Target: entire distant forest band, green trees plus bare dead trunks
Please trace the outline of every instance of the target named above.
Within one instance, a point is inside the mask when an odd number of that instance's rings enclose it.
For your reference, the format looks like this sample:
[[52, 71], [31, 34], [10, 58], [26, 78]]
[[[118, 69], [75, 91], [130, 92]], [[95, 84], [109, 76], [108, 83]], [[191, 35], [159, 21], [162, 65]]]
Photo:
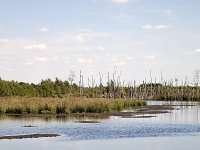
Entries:
[[[42, 80], [39, 84], [29, 84], [17, 81], [5, 81], [0, 78], [0, 96], [21, 96], [21, 97], [87, 97], [87, 98], [124, 98], [124, 99], [154, 99], [154, 100], [183, 100], [199, 101], [199, 72], [195, 78], [195, 83], [189, 85], [186, 81], [178, 85], [178, 79], [174, 81], [156, 83], [143, 81], [136, 86], [125, 85], [118, 79], [109, 79], [106, 85], [102, 84], [100, 76], [99, 84], [84, 86], [83, 77], [80, 75], [79, 84], [74, 83], [74, 74], [69, 76], [68, 81], [56, 78]], [[108, 76], [109, 77], [109, 76]], [[89, 82], [89, 81], [88, 81]]]

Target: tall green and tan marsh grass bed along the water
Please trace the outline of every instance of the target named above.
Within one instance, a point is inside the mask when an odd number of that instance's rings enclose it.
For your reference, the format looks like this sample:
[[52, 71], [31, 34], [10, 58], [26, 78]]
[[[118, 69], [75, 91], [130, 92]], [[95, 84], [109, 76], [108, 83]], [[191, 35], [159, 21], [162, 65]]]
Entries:
[[143, 100], [0, 98], [1, 114], [106, 113], [146, 105]]

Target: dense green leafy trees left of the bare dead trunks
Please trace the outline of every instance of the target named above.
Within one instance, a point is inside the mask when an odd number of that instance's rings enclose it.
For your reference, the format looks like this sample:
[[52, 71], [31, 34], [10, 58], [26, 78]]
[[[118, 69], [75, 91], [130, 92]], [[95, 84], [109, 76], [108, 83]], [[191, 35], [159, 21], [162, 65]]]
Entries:
[[[73, 89], [73, 90], [70, 90]], [[77, 96], [78, 86], [58, 78], [42, 80], [39, 84], [0, 79], [0, 96], [68, 97]]]

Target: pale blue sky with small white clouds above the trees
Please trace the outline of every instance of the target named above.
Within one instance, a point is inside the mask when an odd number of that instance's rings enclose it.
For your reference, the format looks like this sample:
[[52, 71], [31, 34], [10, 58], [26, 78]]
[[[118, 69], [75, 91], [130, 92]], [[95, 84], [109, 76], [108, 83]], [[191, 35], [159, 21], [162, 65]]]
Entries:
[[192, 82], [199, 15], [199, 0], [0, 0], [0, 77]]

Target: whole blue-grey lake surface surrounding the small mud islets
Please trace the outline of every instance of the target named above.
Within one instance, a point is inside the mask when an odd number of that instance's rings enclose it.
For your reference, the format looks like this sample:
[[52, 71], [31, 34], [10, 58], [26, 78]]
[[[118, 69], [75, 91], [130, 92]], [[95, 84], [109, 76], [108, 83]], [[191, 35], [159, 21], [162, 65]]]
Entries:
[[[149, 105], [169, 102], [149, 101]], [[102, 150], [102, 149], [154, 149], [199, 150], [199, 103], [173, 102], [176, 106], [167, 114], [153, 118], [74, 118], [74, 117], [0, 117], [0, 136], [32, 133], [56, 133], [60, 137], [1, 140], [0, 150]], [[77, 123], [94, 120], [99, 123]], [[36, 127], [25, 128], [24, 125]]]

